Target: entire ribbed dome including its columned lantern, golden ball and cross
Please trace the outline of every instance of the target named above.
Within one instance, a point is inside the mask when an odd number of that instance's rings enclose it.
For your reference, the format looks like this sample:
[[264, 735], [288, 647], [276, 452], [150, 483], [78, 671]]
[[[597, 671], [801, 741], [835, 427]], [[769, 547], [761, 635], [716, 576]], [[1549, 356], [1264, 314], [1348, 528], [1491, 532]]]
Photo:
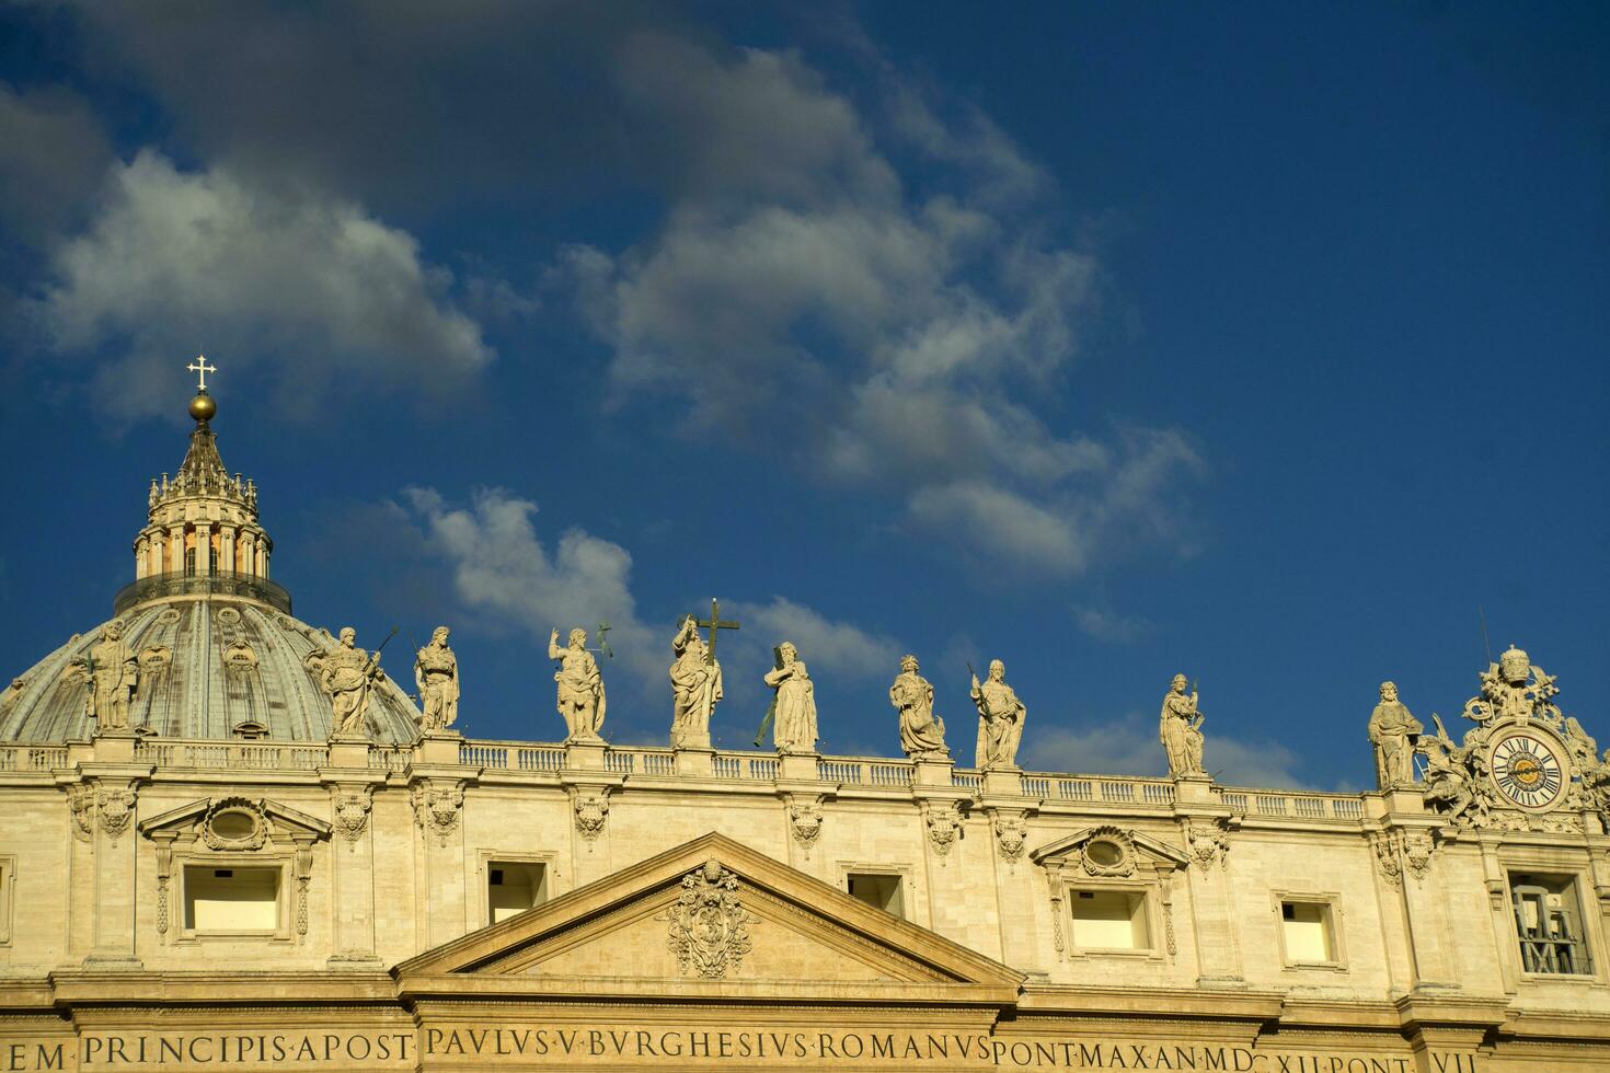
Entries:
[[[179, 471], [151, 481], [145, 495], [134, 582], [113, 598], [114, 618], [0, 689], [0, 742], [84, 742], [106, 729], [90, 714], [89, 666], [113, 624], [127, 648], [116, 660], [137, 666], [129, 727], [163, 738], [330, 738], [335, 711], [319, 664], [340, 645], [330, 631], [291, 618], [290, 594], [269, 581], [274, 541], [258, 523], [258, 486], [224, 468], [208, 423], [216, 413], [203, 383]], [[119, 687], [116, 695], [127, 693]], [[419, 709], [383, 674], [365, 714], [380, 745], [419, 737]]]

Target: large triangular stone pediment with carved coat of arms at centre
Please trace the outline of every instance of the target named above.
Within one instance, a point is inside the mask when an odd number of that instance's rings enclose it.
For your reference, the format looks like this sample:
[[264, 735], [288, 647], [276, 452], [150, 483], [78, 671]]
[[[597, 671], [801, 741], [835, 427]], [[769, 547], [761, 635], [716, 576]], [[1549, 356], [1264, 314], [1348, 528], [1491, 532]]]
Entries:
[[[580, 978], [641, 993], [678, 988], [985, 988], [1022, 973], [873, 909], [797, 869], [710, 833], [502, 923], [402, 962], [409, 981], [501, 978], [551, 989]], [[469, 980], [464, 980], [470, 985]], [[494, 985], [496, 986], [496, 985]], [[483, 989], [483, 988], [475, 988]], [[977, 996], [974, 996], [976, 999]]]

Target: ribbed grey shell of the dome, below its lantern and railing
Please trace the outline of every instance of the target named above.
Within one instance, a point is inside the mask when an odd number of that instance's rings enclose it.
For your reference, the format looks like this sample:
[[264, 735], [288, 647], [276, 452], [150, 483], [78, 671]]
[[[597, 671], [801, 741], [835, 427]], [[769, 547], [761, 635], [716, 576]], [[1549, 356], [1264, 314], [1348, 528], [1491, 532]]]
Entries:
[[[309, 656], [336, 647], [328, 631], [251, 600], [177, 597], [142, 603], [111, 619], [140, 663], [129, 726], [164, 738], [264, 737], [325, 742], [330, 698]], [[40, 660], [23, 685], [0, 692], [0, 740], [87, 740], [85, 658], [111, 624], [79, 634]], [[369, 693], [375, 742], [417, 737], [414, 703], [391, 680]]]

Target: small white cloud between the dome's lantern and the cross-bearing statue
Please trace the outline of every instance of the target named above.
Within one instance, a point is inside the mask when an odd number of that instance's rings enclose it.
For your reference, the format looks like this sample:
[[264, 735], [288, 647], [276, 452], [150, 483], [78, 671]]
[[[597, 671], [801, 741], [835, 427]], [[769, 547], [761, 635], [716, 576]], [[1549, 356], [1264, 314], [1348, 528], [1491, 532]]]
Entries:
[[467, 507], [430, 487], [409, 487], [402, 499], [427, 547], [452, 569], [465, 610], [526, 629], [544, 656], [549, 631], [557, 627], [564, 637], [581, 626], [596, 643], [594, 627], [605, 621], [613, 664], [644, 685], [665, 679], [670, 629], [658, 639], [638, 619], [626, 549], [568, 529], [549, 552], [533, 524], [536, 504], [502, 489], [480, 489]]

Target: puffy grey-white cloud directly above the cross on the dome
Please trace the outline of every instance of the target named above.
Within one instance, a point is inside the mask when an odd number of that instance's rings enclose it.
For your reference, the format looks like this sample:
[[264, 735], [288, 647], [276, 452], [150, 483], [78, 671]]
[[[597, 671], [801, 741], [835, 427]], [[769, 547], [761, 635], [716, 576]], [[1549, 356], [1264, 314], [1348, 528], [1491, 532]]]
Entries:
[[354, 375], [440, 388], [493, 357], [448, 301], [449, 273], [407, 232], [340, 198], [270, 193], [221, 167], [180, 172], [150, 150], [113, 169], [98, 216], [52, 272], [42, 312], [58, 349], [126, 343], [101, 376], [122, 413], [171, 407], [151, 370], [198, 349], [232, 368], [272, 364], [304, 397]]

